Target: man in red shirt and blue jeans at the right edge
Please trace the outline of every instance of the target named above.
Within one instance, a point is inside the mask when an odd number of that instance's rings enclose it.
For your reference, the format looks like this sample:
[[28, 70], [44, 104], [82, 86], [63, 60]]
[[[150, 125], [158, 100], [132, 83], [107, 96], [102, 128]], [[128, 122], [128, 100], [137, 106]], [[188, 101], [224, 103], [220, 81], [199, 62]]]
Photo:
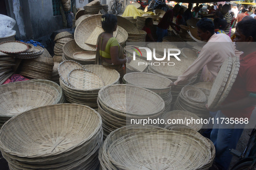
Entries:
[[[235, 46], [243, 51], [240, 55], [240, 68], [237, 78], [224, 102], [211, 111], [217, 111], [215, 119], [243, 120], [239, 123], [214, 123], [211, 141], [216, 149], [215, 163], [210, 170], [228, 170], [232, 160], [231, 149], [235, 149], [237, 142], [250, 119], [256, 104], [255, 98], [249, 97], [256, 93], [256, 20], [247, 19], [237, 23], [235, 32]], [[246, 43], [243, 43], [246, 42]], [[208, 106], [206, 105], [208, 109]], [[209, 109], [208, 109], [209, 110]]]

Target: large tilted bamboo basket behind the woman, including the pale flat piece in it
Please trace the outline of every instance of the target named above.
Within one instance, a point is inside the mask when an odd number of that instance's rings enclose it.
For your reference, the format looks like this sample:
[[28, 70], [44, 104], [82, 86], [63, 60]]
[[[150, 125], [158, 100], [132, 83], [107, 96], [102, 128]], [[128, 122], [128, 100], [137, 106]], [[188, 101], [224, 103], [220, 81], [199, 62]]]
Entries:
[[[74, 35], [75, 42], [83, 50], [96, 51], [98, 35], [100, 35], [101, 32], [104, 32], [101, 28], [101, 16], [101, 14], [89, 16], [77, 25]], [[125, 44], [128, 34], [118, 22], [117, 25], [117, 31], [113, 33], [113, 36], [117, 38], [117, 41], [122, 45]]]

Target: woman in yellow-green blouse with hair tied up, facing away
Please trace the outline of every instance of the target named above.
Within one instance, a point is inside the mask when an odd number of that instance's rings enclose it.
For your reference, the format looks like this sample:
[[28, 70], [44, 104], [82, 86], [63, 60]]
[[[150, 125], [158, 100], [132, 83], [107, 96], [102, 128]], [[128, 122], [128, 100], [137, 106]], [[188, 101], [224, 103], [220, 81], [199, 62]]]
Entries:
[[105, 14], [101, 16], [101, 25], [104, 32], [97, 39], [95, 64], [117, 70], [120, 73], [120, 83], [122, 83], [126, 73], [125, 64], [131, 59], [126, 58], [122, 46], [113, 37], [113, 32], [117, 30], [117, 17], [113, 14]]

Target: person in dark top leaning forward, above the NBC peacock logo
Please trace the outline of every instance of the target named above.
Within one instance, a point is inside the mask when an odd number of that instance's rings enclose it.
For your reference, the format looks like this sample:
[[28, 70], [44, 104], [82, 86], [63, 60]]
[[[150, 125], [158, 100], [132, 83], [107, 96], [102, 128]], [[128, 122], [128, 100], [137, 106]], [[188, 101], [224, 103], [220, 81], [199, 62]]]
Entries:
[[180, 28], [180, 26], [172, 22], [172, 20], [173, 16], [175, 14], [177, 15], [180, 9], [181, 6], [177, 3], [173, 9], [169, 9], [162, 17], [156, 28], [156, 36], [158, 42], [161, 42], [163, 37], [168, 36], [167, 29], [169, 28], [169, 26], [171, 26], [172, 29], [174, 29], [174, 31], [178, 33], [178, 30], [175, 27]]

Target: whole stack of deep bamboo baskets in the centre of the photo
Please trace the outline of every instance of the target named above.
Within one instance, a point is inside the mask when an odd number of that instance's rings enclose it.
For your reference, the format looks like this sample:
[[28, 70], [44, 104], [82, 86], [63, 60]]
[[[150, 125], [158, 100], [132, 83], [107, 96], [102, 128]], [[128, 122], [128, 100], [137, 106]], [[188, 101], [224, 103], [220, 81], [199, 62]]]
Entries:
[[126, 126], [126, 123], [133, 123], [132, 119], [136, 123], [141, 119], [157, 119], [165, 109], [165, 103], [158, 94], [135, 85], [110, 85], [102, 88], [97, 102], [104, 138], [113, 130]]

